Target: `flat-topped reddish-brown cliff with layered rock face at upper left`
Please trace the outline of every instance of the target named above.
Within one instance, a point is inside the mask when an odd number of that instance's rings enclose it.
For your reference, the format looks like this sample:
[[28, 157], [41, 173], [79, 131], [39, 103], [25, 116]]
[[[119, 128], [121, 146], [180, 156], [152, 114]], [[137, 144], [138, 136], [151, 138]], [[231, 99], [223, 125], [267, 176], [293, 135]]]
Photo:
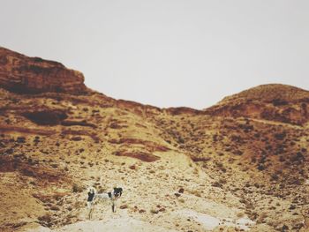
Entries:
[[0, 47], [0, 86], [19, 94], [84, 94], [84, 76], [63, 64], [28, 57]]

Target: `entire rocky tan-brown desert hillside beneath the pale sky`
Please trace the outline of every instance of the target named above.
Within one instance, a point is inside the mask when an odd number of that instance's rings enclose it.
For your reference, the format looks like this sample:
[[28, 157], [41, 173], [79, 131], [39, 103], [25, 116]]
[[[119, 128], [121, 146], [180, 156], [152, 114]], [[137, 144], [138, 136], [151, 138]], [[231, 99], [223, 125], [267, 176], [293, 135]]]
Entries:
[[[309, 229], [308, 91], [265, 85], [160, 109], [83, 81], [0, 49], [1, 231]], [[90, 185], [124, 189], [117, 213], [98, 201], [87, 220]]]

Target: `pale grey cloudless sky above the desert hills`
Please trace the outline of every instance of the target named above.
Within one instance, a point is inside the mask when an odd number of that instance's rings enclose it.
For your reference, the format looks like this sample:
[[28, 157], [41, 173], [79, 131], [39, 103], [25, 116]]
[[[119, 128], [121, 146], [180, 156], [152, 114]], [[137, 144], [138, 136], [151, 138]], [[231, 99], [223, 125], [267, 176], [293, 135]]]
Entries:
[[309, 1], [0, 0], [0, 46], [116, 99], [204, 109], [252, 86], [309, 89]]

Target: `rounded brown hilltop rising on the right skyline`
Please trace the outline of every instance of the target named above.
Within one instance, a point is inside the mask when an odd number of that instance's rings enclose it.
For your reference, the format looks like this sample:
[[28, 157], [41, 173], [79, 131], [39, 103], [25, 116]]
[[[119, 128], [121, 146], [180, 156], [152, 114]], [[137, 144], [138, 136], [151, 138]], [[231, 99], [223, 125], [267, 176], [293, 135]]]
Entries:
[[261, 85], [205, 109], [211, 116], [251, 117], [303, 125], [309, 121], [309, 92], [281, 84]]

